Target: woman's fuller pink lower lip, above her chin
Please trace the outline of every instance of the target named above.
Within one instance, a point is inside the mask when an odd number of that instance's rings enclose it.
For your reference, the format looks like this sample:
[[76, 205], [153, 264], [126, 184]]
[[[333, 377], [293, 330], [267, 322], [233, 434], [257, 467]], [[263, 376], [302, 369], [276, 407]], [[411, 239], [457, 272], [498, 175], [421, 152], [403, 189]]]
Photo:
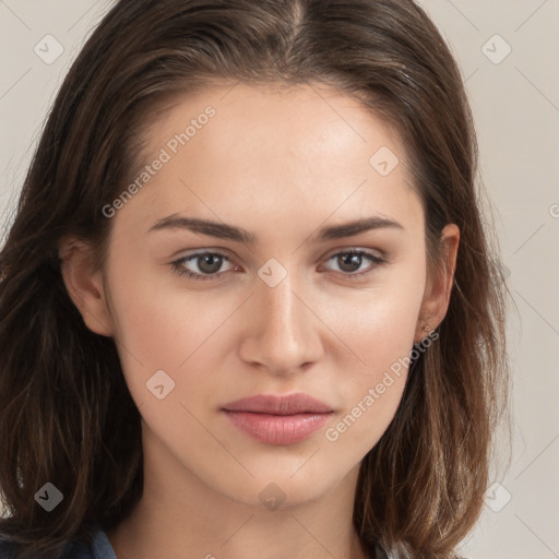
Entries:
[[266, 444], [294, 444], [318, 431], [329, 414], [271, 415], [224, 409], [233, 425]]

